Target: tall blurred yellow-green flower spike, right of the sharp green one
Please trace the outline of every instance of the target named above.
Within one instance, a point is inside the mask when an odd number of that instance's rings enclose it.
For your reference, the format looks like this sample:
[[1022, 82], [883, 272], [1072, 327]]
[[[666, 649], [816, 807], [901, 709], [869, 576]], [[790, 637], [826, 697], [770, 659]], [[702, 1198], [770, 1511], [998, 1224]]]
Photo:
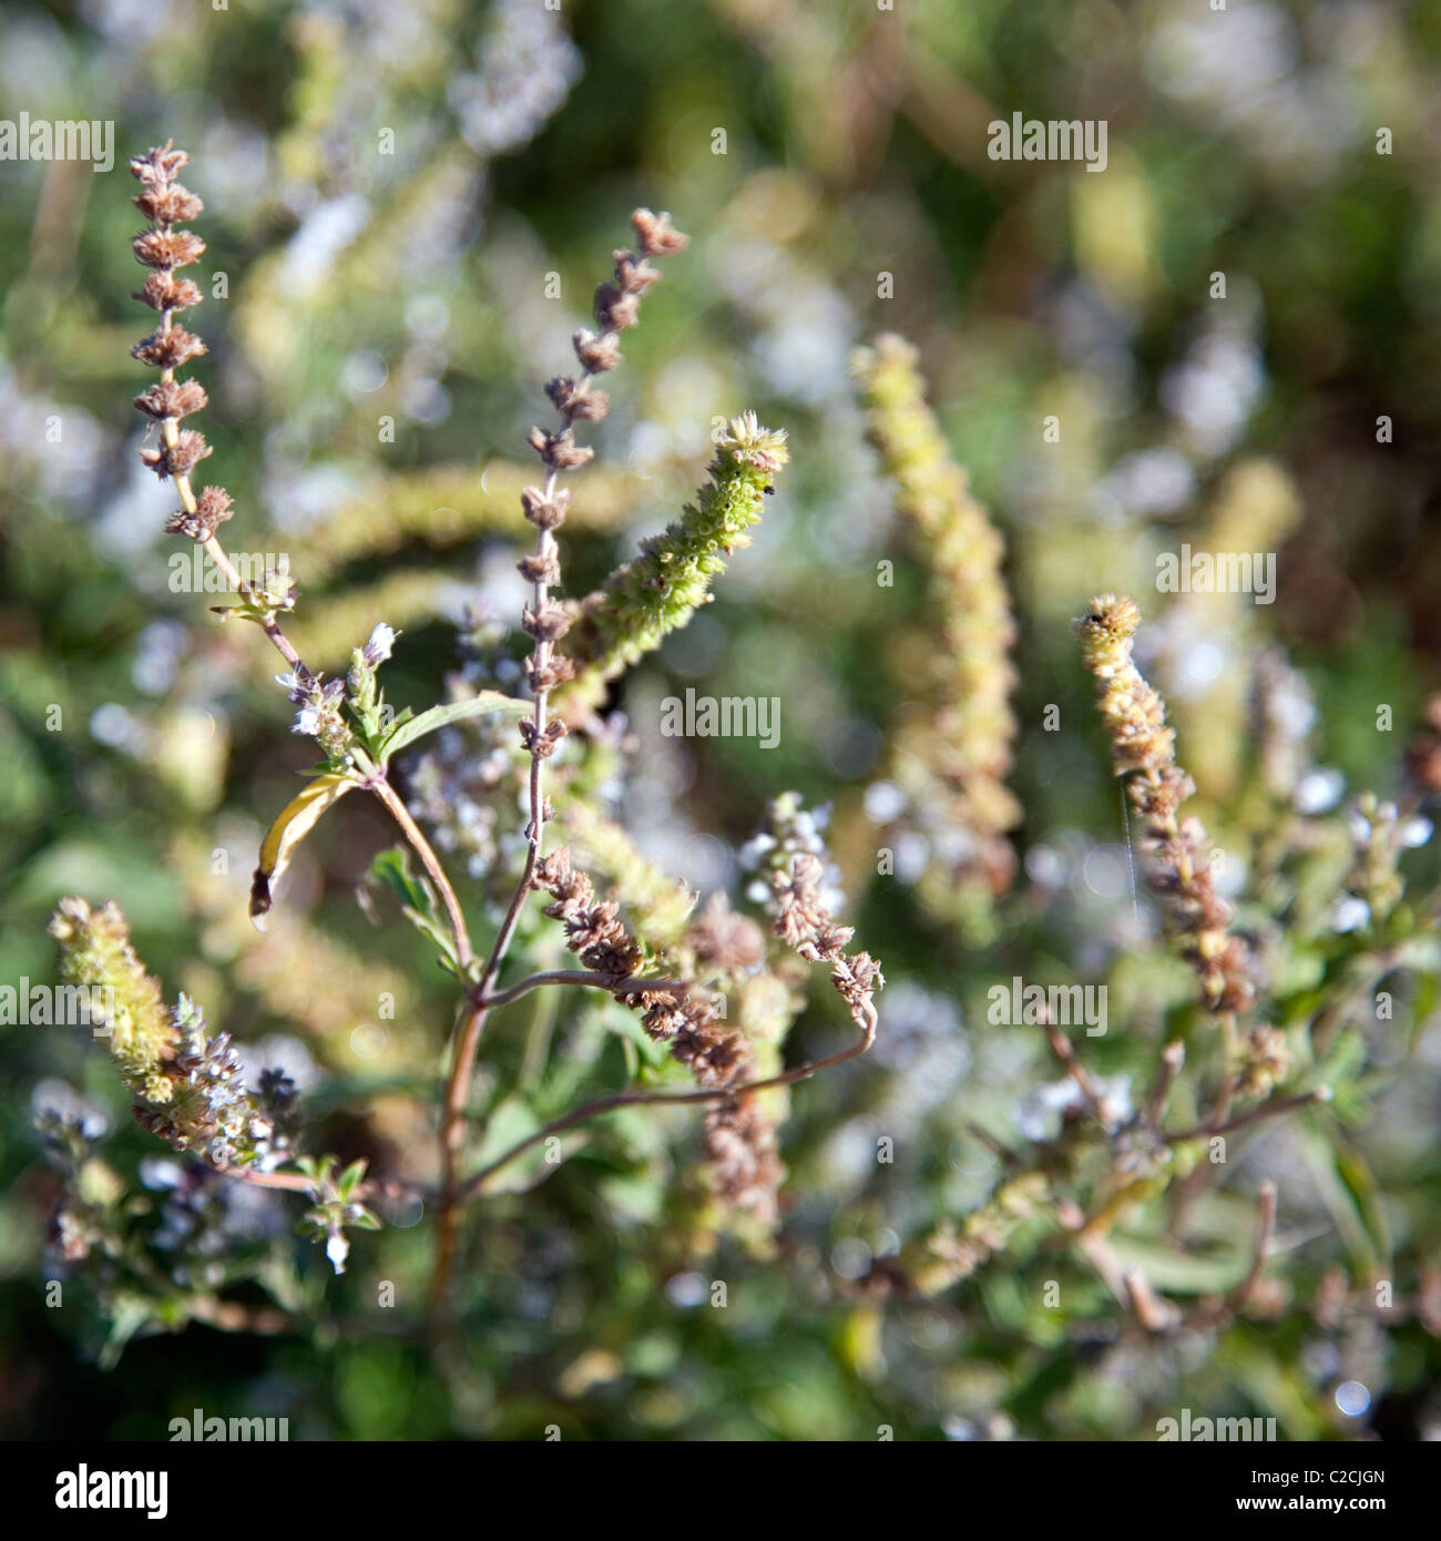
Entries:
[[1000, 570], [1005, 542], [951, 458], [926, 405], [917, 359], [903, 337], [883, 333], [852, 361], [868, 438], [895, 482], [897, 512], [920, 536], [940, 632], [932, 652], [940, 710], [897, 746], [897, 761], [899, 769], [908, 760], [925, 766], [952, 804], [949, 817], [972, 837], [954, 878], [1002, 894], [1016, 871], [1005, 832], [1020, 820], [1005, 786], [1016, 737], [1009, 701], [1016, 670], [1008, 658], [1016, 623]]

